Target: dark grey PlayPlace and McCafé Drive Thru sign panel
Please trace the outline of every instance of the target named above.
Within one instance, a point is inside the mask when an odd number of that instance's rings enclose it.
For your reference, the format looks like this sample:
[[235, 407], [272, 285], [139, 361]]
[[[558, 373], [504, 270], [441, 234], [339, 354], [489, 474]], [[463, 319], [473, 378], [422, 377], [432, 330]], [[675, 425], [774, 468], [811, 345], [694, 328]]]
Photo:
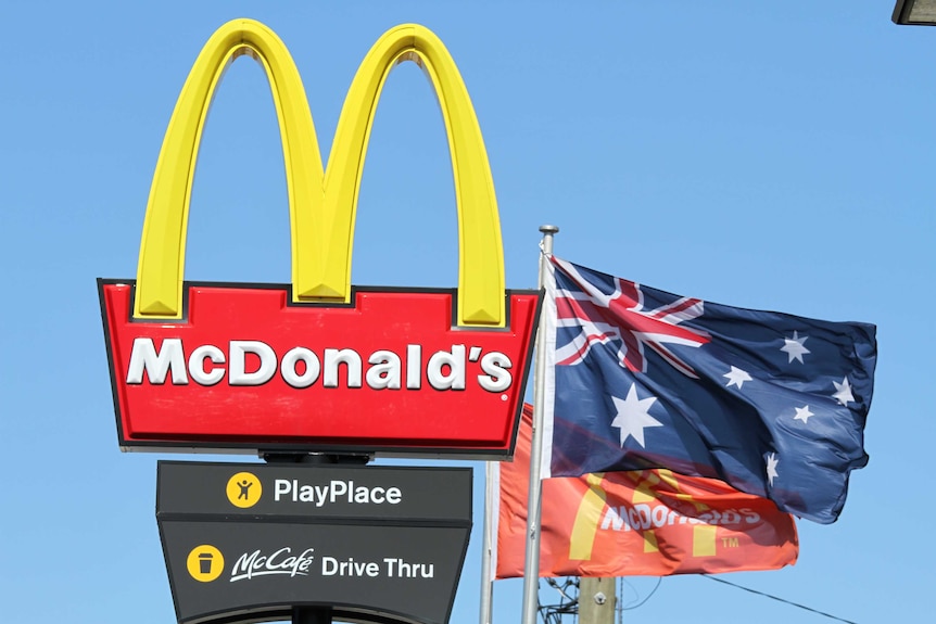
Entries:
[[181, 623], [300, 606], [443, 624], [471, 530], [471, 469], [162, 461], [156, 519]]

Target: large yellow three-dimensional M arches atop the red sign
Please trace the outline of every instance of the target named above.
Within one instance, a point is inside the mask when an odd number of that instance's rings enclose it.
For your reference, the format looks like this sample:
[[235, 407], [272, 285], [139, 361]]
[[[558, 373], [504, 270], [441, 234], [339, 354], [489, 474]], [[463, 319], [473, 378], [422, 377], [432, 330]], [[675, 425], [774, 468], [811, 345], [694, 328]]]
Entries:
[[248, 54], [264, 68], [286, 165], [295, 302], [349, 302], [357, 194], [377, 102], [399, 63], [419, 63], [442, 109], [458, 208], [458, 324], [505, 326], [504, 251], [484, 140], [455, 62], [428, 28], [391, 28], [365, 56], [349, 89], [324, 170], [302, 79], [283, 42], [265, 25], [218, 28], [192, 66], [169, 120], [143, 222], [136, 318], [179, 319], [195, 158], [212, 95], [228, 65]]

